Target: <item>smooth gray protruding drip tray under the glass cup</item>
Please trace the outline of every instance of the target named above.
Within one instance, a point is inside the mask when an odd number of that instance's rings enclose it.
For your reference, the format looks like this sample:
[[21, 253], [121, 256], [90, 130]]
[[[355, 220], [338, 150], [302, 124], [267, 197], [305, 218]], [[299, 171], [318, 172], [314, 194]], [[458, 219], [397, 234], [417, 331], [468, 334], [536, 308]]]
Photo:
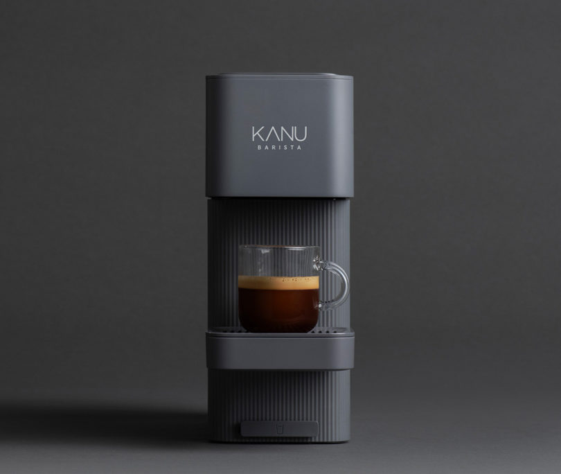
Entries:
[[206, 367], [224, 370], [348, 370], [355, 362], [350, 328], [309, 333], [248, 333], [241, 327], [206, 332]]

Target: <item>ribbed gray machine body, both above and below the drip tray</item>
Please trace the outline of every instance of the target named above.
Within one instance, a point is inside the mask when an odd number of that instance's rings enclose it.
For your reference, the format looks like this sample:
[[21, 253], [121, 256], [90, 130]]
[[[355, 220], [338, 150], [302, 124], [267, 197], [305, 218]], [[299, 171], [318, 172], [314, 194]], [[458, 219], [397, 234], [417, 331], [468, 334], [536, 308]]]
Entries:
[[[348, 199], [208, 200], [208, 327], [239, 326], [238, 246], [318, 245], [350, 275]], [[339, 281], [321, 275], [320, 297]], [[349, 327], [350, 299], [320, 312], [318, 326]], [[258, 354], [256, 354], [258, 357]], [[349, 439], [350, 370], [208, 370], [211, 439], [236, 442], [340, 442]], [[242, 437], [242, 421], [317, 421], [317, 437]]]

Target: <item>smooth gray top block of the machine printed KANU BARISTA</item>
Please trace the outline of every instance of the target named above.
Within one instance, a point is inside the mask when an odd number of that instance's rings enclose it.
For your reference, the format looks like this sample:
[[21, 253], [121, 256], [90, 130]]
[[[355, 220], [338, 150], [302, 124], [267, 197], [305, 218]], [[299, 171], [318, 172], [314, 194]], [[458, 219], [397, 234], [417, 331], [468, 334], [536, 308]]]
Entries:
[[209, 197], [352, 197], [353, 78], [207, 77], [206, 167]]

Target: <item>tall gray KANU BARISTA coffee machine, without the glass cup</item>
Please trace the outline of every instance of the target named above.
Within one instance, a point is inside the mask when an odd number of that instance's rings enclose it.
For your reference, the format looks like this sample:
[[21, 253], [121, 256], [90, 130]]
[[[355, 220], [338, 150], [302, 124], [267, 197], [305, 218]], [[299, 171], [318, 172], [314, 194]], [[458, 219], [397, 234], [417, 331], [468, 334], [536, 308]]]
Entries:
[[[215, 441], [350, 439], [350, 299], [321, 312], [309, 333], [248, 333], [238, 320], [237, 259], [239, 245], [317, 245], [350, 275], [353, 159], [351, 76], [207, 76], [206, 365]], [[337, 295], [335, 277], [320, 281], [323, 299]]]

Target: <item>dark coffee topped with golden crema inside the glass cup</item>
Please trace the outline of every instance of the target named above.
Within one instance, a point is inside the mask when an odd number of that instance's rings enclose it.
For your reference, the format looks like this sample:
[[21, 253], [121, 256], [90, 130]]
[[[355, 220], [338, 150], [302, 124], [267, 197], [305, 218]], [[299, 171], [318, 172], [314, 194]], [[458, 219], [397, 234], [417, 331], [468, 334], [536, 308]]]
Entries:
[[319, 276], [238, 277], [240, 323], [251, 333], [307, 333], [317, 324]]

